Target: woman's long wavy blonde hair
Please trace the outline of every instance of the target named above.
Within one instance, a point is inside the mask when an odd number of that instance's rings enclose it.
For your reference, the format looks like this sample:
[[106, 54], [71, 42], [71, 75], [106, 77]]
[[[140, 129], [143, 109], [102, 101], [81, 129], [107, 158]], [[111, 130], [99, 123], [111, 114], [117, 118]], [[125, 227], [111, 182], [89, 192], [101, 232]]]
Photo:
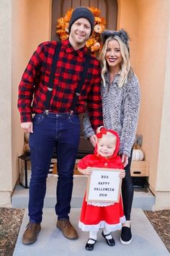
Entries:
[[104, 87], [106, 86], [106, 82], [104, 80], [104, 74], [107, 72], [108, 64], [107, 61], [105, 60], [105, 55], [107, 52], [107, 46], [110, 40], [117, 40], [117, 42], [120, 44], [120, 53], [122, 55], [122, 63], [120, 64], [120, 80], [118, 83], [118, 86], [122, 88], [122, 85], [124, 85], [125, 82], [128, 80], [128, 74], [130, 72], [130, 53], [128, 50], [128, 47], [126, 46], [125, 43], [122, 42], [120, 37], [118, 35], [111, 35], [109, 38], [107, 38], [104, 42], [104, 45], [102, 47], [102, 51], [99, 54], [99, 61], [102, 65], [102, 81]]

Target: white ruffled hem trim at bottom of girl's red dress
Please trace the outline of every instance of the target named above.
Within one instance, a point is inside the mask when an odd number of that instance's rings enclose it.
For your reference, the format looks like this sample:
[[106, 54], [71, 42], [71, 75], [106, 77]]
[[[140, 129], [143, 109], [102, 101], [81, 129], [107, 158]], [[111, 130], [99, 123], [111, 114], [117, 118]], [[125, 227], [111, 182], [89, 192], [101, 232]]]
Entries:
[[100, 221], [97, 225], [85, 225], [81, 221], [79, 221], [79, 228], [82, 231], [99, 231], [99, 229], [106, 228], [108, 231], [116, 231], [122, 229], [122, 223], [126, 221], [125, 216], [120, 218], [120, 223], [117, 224], [108, 224], [106, 221]]

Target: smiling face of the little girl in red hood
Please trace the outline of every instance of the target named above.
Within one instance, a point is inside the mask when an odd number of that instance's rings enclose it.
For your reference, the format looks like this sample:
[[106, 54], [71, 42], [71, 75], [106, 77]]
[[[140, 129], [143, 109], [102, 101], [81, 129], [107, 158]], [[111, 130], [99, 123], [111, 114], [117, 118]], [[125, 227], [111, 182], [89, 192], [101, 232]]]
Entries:
[[104, 158], [109, 158], [113, 155], [116, 148], [116, 137], [103, 135], [99, 139], [97, 144], [97, 153], [104, 156]]

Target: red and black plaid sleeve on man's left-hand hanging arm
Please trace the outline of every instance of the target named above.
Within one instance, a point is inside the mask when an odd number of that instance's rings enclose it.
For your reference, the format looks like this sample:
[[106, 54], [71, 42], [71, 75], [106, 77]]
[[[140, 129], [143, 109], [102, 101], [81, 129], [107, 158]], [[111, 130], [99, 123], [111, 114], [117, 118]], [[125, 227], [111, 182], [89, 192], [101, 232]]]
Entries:
[[22, 80], [19, 83], [18, 109], [22, 123], [32, 121], [32, 97], [37, 77], [40, 75], [40, 67], [43, 57], [44, 45], [41, 43], [27, 64], [24, 74], [22, 75]]

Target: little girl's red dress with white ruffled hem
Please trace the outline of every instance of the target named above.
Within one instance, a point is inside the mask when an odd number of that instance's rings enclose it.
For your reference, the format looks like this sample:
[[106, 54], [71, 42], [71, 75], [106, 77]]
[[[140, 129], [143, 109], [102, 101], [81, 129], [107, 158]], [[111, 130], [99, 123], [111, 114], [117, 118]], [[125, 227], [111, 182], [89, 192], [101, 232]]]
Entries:
[[[104, 168], [124, 168], [117, 150], [111, 156], [111, 158], [104, 158], [101, 155], [97, 155], [97, 148], [94, 150], [94, 154], [86, 155], [78, 163], [78, 167], [85, 169], [89, 167], [104, 167]], [[115, 202], [112, 205], [107, 206], [94, 206], [89, 205], [85, 200], [86, 193], [84, 195], [84, 201], [81, 208], [81, 217], [79, 221], [79, 228], [82, 231], [98, 231], [99, 229], [106, 228], [108, 231], [115, 231], [122, 229], [122, 223], [125, 222], [125, 216], [122, 208], [122, 198], [120, 202]]]

